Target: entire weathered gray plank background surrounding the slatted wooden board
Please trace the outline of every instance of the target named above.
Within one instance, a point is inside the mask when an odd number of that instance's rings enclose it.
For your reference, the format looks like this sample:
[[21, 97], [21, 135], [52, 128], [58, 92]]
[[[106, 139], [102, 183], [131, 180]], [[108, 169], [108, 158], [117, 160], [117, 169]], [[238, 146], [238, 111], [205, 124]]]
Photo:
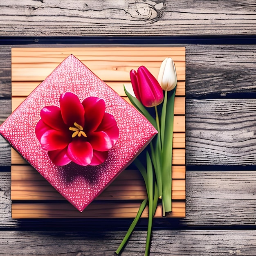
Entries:
[[[58, 45], [41, 45], [38, 36], [253, 36], [255, 10], [254, 0], [2, 0], [0, 36], [31, 36], [39, 47]], [[11, 113], [11, 46], [18, 46], [3, 42], [1, 123]], [[154, 221], [152, 255], [256, 255], [256, 46], [182, 46], [186, 218]], [[10, 165], [1, 138], [0, 254], [114, 254], [130, 219], [11, 219]], [[143, 255], [145, 241], [143, 219], [123, 255]]]

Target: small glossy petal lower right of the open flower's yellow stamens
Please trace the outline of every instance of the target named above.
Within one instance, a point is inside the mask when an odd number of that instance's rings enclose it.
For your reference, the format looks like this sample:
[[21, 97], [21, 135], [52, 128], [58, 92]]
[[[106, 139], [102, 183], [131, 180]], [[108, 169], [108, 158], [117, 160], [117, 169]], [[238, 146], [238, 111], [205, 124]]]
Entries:
[[93, 132], [90, 134], [90, 137], [88, 137], [88, 141], [92, 145], [92, 148], [98, 151], [107, 151], [113, 146], [106, 132]]

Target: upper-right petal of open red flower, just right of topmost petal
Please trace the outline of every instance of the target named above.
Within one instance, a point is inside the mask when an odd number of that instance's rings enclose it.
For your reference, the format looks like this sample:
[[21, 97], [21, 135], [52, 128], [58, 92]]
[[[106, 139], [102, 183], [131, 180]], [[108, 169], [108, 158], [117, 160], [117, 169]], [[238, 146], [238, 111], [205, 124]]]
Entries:
[[85, 130], [87, 132], [95, 131], [102, 121], [106, 110], [106, 103], [103, 99], [97, 97], [88, 97], [83, 102]]

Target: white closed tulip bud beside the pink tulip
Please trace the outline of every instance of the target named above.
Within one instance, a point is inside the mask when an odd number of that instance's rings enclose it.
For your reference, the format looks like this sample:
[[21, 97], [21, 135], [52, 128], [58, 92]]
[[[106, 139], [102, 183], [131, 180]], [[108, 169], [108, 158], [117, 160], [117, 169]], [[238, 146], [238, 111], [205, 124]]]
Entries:
[[157, 81], [164, 91], [171, 91], [177, 85], [177, 75], [172, 58], [165, 58], [162, 62]]

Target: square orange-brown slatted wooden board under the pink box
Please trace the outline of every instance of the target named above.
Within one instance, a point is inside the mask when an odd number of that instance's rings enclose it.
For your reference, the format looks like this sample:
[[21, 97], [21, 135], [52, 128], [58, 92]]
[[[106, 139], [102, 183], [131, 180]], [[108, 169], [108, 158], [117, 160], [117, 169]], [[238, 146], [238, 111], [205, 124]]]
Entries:
[[[157, 76], [164, 58], [173, 58], [178, 83], [172, 156], [173, 211], [169, 217], [185, 217], [185, 48], [12, 48], [12, 110], [70, 54], [122, 97], [125, 97], [123, 85], [130, 84], [131, 69], [144, 65]], [[11, 163], [12, 218], [133, 218], [146, 197], [139, 172], [125, 170], [80, 213], [13, 149]], [[155, 216], [162, 216], [161, 205]], [[147, 217], [147, 209], [143, 217]]]

